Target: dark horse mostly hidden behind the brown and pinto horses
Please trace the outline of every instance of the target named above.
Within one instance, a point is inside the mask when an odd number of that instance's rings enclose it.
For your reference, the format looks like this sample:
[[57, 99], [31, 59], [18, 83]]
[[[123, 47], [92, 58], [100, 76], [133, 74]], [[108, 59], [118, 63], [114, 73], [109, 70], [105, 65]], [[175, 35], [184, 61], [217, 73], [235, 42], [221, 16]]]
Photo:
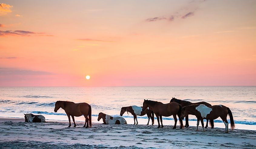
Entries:
[[[196, 103], [192, 103], [192, 102], [189, 102], [189, 101], [184, 101], [184, 100], [180, 100], [180, 99], [176, 99], [176, 98], [173, 98], [171, 99], [170, 102], [177, 102], [179, 104], [181, 104], [182, 107], [185, 107], [185, 106], [188, 106], [188, 105], [206, 105], [206, 106], [211, 106], [211, 104], [207, 103], [207, 102], [196, 102]], [[188, 127], [188, 115], [186, 116], [186, 124], [185, 124], [185, 127]], [[213, 120], [211, 121], [210, 125], [213, 124]], [[205, 128], [208, 127], [208, 119], [206, 119], [206, 125], [205, 125]], [[213, 128], [213, 126], [211, 125], [211, 128]]]

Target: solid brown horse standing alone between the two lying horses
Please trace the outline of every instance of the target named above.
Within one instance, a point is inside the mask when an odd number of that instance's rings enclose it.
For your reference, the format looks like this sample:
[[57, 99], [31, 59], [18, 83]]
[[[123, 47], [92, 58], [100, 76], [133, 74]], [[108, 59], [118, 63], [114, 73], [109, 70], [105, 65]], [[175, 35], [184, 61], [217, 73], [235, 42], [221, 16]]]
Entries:
[[[74, 127], [76, 126], [75, 124], [75, 118], [74, 116], [82, 116], [84, 115], [85, 117], [85, 125], [87, 123], [86, 128], [88, 128], [90, 125], [91, 127], [91, 105], [88, 103], [82, 102], [82, 103], [74, 103], [74, 102], [68, 102], [68, 101], [57, 101], [55, 103], [55, 108], [54, 112], [57, 112], [58, 109], [62, 108], [65, 110], [66, 114], [68, 115], [68, 121], [69, 125], [68, 127], [71, 126], [70, 122], [70, 116], [72, 117], [72, 120], [74, 122]], [[85, 127], [84, 125], [84, 127]]]

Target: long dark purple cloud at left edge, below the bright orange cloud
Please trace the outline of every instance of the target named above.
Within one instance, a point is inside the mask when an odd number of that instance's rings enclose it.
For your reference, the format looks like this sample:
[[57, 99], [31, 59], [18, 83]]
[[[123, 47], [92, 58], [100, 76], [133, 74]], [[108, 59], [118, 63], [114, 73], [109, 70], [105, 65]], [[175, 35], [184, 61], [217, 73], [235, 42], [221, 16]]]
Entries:
[[37, 32], [32, 32], [32, 31], [22, 31], [22, 30], [16, 30], [16, 31], [0, 31], [0, 37], [5, 37], [5, 36], [53, 36], [53, 35], [47, 35], [45, 33], [37, 33]]

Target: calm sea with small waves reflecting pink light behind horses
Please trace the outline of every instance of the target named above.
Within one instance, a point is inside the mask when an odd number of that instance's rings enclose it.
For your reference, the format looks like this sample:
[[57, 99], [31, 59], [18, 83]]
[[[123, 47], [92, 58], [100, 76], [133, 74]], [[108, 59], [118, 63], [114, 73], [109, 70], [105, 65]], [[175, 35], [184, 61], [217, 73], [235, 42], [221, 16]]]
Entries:
[[[90, 104], [92, 116], [95, 116], [93, 122], [98, 122], [99, 112], [115, 116], [120, 114], [123, 106], [142, 106], [144, 99], [168, 103], [172, 97], [225, 105], [231, 109], [236, 124], [249, 129], [256, 126], [256, 86], [0, 87], [0, 117], [24, 118], [23, 113], [34, 113], [42, 114], [48, 120], [67, 120], [64, 110], [57, 113], [53, 110], [57, 100], [68, 100]], [[127, 113], [123, 117], [133, 118]], [[147, 119], [146, 116], [138, 118]], [[163, 119], [173, 120], [172, 117]], [[76, 120], [84, 121], [84, 117]], [[196, 118], [190, 116], [190, 121], [196, 121]], [[215, 122], [222, 123], [220, 118]]]

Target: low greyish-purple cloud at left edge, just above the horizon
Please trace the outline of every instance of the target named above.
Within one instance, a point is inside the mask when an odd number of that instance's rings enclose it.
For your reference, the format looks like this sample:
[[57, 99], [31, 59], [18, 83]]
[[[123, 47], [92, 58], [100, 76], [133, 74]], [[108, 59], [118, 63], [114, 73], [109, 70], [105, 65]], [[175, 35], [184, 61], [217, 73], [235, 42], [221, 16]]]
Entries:
[[0, 75], [54, 75], [47, 71], [22, 70], [18, 68], [0, 68]]

